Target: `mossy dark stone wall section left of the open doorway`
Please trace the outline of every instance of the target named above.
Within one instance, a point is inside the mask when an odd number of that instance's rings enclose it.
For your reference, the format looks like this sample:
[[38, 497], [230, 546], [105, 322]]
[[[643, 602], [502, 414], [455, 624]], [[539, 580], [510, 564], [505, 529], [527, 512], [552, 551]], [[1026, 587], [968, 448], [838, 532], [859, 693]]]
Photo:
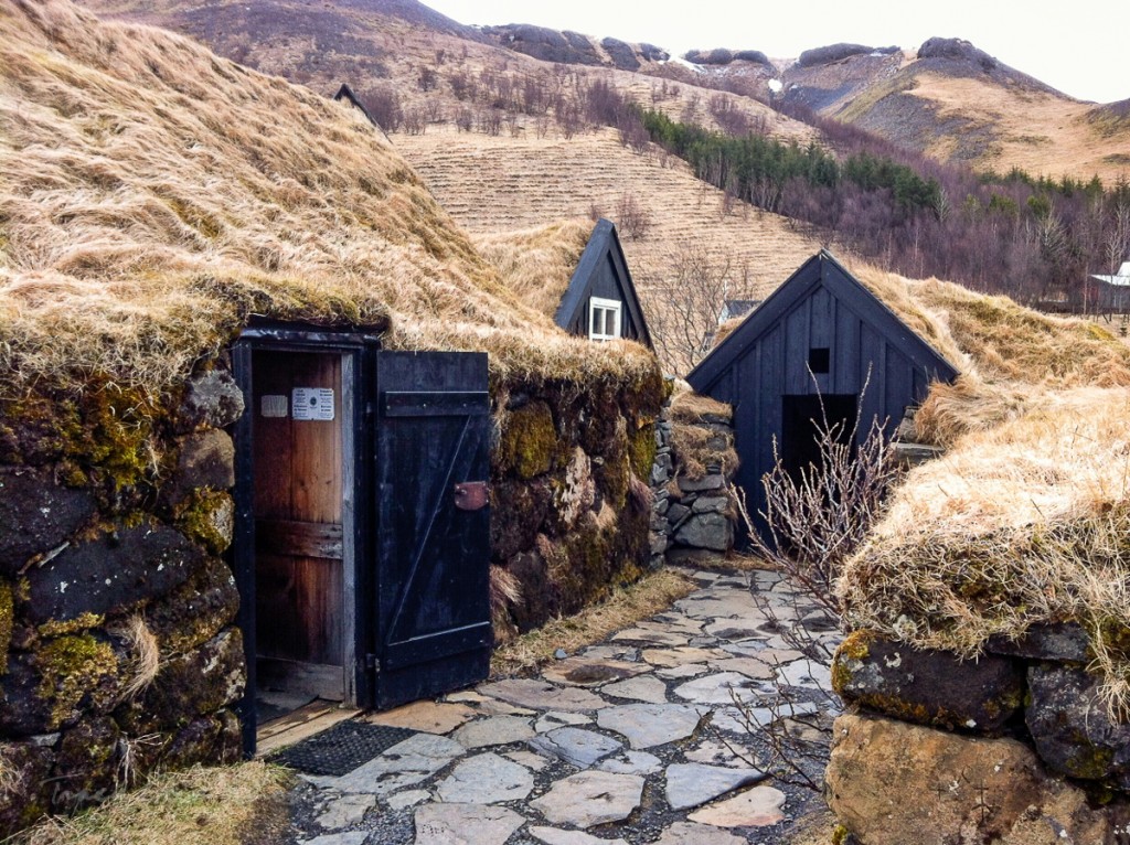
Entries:
[[113, 384], [0, 403], [0, 836], [157, 765], [240, 756], [219, 556], [242, 411], [223, 365], [168, 407]]

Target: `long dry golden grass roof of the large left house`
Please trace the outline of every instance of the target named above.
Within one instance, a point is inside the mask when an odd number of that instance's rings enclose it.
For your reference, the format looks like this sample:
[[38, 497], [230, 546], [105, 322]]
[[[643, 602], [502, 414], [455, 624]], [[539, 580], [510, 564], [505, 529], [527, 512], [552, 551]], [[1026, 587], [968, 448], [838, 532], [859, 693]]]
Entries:
[[64, 0], [0, 7], [0, 392], [160, 392], [251, 314], [391, 324], [502, 378], [654, 366], [520, 303], [356, 110]]

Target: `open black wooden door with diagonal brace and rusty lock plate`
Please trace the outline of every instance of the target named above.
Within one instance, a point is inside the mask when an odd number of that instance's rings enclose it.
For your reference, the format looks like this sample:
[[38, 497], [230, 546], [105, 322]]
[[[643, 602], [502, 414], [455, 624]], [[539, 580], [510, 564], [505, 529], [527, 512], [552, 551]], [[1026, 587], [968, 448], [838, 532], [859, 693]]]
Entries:
[[490, 667], [489, 399], [479, 352], [377, 352], [375, 705]]

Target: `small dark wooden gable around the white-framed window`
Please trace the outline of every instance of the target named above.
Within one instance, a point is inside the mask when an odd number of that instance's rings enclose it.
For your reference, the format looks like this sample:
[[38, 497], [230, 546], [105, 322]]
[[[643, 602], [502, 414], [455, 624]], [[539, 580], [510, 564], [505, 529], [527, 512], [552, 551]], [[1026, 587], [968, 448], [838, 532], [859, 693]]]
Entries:
[[581, 253], [554, 321], [571, 334], [589, 337], [592, 297], [620, 303], [621, 338], [653, 348], [624, 249], [611, 220], [600, 219]]

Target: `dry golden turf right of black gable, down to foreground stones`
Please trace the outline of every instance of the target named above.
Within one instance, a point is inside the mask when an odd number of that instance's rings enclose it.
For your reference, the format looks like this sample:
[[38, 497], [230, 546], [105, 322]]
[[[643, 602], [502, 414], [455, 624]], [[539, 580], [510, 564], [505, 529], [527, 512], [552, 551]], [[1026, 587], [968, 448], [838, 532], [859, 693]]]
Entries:
[[844, 570], [852, 624], [974, 656], [1079, 621], [1107, 704], [1130, 714], [1130, 349], [1003, 297], [860, 276], [963, 374], [915, 418], [947, 453], [905, 478]]

